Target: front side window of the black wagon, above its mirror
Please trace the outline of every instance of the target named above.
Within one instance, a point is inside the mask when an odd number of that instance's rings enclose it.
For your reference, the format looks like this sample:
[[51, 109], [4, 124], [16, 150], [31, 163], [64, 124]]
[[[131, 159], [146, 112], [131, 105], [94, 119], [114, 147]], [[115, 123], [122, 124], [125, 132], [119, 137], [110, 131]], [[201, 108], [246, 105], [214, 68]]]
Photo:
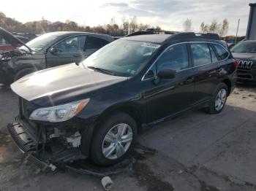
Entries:
[[169, 47], [158, 59], [157, 71], [161, 69], [173, 69], [176, 71], [189, 67], [187, 44], [177, 44]]

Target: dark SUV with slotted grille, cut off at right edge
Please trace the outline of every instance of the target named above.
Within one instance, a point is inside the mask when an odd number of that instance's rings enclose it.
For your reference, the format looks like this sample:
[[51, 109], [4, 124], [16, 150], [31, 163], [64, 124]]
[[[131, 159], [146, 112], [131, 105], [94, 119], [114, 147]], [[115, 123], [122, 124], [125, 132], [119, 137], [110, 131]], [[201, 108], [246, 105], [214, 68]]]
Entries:
[[256, 82], [256, 40], [244, 40], [231, 49], [239, 62], [237, 77], [240, 82]]

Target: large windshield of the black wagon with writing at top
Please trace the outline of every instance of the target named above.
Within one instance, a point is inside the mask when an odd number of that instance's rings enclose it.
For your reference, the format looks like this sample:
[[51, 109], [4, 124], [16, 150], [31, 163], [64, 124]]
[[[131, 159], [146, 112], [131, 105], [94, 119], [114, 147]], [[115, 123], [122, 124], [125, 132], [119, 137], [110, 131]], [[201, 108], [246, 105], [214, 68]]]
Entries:
[[94, 52], [82, 62], [89, 69], [130, 77], [138, 73], [160, 47], [151, 42], [119, 39]]

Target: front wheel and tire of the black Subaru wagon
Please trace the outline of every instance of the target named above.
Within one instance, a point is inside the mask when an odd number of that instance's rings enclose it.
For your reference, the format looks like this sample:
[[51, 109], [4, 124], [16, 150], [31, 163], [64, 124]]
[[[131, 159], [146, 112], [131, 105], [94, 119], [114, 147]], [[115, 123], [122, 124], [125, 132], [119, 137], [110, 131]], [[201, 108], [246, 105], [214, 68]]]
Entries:
[[113, 165], [123, 160], [137, 137], [135, 120], [116, 112], [99, 125], [91, 141], [90, 158], [97, 165]]

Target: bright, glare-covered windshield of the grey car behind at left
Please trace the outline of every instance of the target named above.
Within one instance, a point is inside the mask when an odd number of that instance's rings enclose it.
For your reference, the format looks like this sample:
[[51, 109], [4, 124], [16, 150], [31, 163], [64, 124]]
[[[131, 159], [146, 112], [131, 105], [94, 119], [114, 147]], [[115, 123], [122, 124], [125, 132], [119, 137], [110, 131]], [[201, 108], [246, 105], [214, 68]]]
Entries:
[[[48, 43], [52, 42], [57, 37], [58, 36], [51, 33], [43, 34], [31, 40], [30, 42], [26, 43], [26, 45], [30, 47], [31, 50], [33, 50], [33, 52], [38, 52], [39, 50], [42, 50]], [[20, 49], [27, 50], [25, 46], [20, 47]]]

